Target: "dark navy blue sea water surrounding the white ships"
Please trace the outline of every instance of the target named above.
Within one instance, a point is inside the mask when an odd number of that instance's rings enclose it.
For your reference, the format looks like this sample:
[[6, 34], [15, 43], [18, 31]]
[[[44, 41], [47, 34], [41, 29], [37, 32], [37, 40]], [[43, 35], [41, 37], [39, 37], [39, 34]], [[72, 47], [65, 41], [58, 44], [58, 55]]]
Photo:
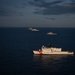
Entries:
[[[49, 43], [75, 51], [75, 28], [0, 28], [0, 75], [75, 75], [75, 55], [34, 55]], [[47, 32], [57, 33], [48, 36]]]

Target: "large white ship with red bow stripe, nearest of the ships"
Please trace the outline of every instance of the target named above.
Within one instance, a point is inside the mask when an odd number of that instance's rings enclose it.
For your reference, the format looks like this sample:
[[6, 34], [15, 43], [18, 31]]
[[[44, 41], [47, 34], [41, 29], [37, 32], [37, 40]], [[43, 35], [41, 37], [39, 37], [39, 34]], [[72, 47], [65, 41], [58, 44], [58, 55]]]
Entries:
[[62, 51], [62, 48], [42, 46], [41, 49], [33, 50], [34, 54], [74, 54], [73, 51]]

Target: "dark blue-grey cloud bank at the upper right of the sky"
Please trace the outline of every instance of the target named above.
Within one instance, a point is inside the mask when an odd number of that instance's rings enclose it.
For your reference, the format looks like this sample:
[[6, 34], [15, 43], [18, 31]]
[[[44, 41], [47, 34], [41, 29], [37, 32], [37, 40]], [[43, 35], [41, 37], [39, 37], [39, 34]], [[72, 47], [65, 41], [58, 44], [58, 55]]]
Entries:
[[[64, 3], [64, 4], [63, 4]], [[62, 15], [62, 14], [75, 14], [75, 0], [70, 3], [65, 3], [65, 0], [53, 0], [46, 2], [46, 0], [34, 0], [30, 2], [31, 5], [38, 7], [35, 14], [43, 15]]]

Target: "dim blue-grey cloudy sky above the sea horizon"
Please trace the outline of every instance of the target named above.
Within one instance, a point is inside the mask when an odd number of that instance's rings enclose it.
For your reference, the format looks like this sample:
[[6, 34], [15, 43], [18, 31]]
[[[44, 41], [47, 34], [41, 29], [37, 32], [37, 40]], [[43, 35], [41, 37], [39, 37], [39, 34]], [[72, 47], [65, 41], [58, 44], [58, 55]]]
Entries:
[[0, 0], [0, 27], [75, 27], [75, 0]]

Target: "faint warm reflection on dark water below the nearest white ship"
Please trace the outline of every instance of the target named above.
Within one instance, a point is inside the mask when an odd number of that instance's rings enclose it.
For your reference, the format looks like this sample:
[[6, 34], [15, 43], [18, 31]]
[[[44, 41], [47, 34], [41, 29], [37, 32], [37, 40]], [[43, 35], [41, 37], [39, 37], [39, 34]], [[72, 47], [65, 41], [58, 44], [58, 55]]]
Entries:
[[54, 73], [63, 72], [67, 65], [67, 61], [73, 55], [34, 55], [35, 66], [41, 72]]

